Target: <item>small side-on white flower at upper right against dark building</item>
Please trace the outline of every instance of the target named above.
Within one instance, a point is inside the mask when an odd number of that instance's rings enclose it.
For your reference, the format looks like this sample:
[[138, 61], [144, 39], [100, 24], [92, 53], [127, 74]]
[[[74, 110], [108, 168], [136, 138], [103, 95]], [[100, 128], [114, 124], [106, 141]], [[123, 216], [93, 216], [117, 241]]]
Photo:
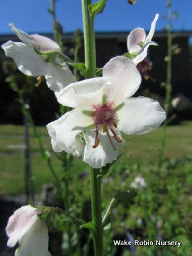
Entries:
[[156, 42], [151, 41], [155, 32], [158, 17], [159, 14], [156, 14], [153, 22], [151, 23], [151, 29], [148, 35], [146, 35], [144, 28], [135, 28], [127, 37], [128, 52], [130, 54], [137, 54], [133, 59], [133, 62], [136, 65], [147, 56], [147, 50], [150, 45], [158, 45]]

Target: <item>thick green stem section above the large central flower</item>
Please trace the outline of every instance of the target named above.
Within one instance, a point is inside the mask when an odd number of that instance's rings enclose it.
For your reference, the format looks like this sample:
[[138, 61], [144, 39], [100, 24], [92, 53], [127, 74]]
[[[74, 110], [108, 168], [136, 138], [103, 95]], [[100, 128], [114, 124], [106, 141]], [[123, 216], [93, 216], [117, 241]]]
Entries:
[[91, 4], [91, 0], [82, 0], [86, 78], [96, 77], [94, 18], [90, 15], [89, 4]]

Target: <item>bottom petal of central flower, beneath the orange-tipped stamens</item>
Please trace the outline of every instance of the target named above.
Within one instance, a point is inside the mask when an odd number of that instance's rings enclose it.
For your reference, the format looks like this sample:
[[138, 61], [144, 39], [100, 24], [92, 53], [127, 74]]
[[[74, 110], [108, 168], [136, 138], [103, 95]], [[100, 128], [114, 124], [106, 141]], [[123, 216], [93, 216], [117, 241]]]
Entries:
[[106, 134], [99, 133], [100, 143], [93, 148], [95, 143], [95, 133], [93, 131], [85, 132], [86, 146], [83, 161], [88, 163], [92, 168], [101, 168], [107, 163], [112, 163], [118, 156], [119, 143], [111, 137], [116, 150], [110, 145], [109, 138]]

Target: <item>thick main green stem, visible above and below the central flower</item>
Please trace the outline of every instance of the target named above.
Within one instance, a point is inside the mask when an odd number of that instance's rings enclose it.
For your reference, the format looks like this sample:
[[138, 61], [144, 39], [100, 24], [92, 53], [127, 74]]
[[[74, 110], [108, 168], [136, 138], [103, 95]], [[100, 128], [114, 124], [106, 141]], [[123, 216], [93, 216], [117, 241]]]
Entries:
[[[85, 66], [86, 78], [96, 77], [96, 49], [94, 18], [89, 12], [91, 0], [82, 0], [82, 16], [84, 28], [84, 48], [85, 48]], [[94, 255], [103, 256], [103, 225], [101, 216], [101, 177], [98, 169], [90, 167], [90, 185], [91, 185], [91, 209], [92, 222], [95, 225], [93, 232]]]

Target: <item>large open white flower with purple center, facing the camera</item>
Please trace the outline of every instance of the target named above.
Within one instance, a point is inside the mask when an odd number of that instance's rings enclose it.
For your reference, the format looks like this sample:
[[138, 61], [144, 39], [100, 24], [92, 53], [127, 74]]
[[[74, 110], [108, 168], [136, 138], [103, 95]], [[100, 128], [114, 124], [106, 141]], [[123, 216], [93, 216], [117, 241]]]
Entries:
[[84, 138], [83, 160], [101, 168], [118, 156], [125, 134], [144, 134], [165, 119], [160, 104], [147, 97], [129, 98], [139, 88], [141, 76], [126, 57], [112, 58], [103, 68], [103, 77], [86, 79], [65, 87], [59, 103], [73, 107], [47, 125], [55, 152], [72, 153], [75, 139]]

